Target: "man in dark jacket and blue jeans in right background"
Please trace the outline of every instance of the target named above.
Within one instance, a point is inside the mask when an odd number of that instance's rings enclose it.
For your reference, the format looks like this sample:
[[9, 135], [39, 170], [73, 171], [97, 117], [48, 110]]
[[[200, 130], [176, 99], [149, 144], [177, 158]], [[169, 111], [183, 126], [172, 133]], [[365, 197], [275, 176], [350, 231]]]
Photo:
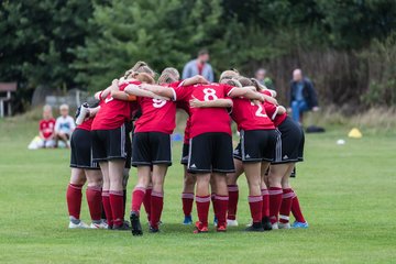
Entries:
[[301, 69], [293, 72], [290, 81], [290, 111], [293, 120], [301, 122], [302, 113], [306, 111], [318, 111], [318, 99], [312, 82], [302, 76]]

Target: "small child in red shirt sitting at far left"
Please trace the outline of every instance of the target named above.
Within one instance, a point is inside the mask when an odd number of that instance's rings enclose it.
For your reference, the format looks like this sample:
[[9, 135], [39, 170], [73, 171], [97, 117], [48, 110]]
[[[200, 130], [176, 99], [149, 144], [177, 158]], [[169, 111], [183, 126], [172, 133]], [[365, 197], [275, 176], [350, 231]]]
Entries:
[[40, 147], [47, 148], [55, 146], [55, 119], [52, 114], [51, 106], [44, 106], [43, 119], [40, 121], [38, 135], [41, 139]]

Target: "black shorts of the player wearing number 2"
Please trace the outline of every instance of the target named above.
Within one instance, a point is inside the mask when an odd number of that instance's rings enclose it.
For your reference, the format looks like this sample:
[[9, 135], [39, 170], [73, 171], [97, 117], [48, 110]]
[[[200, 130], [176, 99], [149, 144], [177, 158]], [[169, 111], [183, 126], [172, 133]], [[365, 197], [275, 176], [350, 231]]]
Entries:
[[241, 140], [233, 156], [242, 162], [272, 162], [275, 157], [276, 130], [241, 130]]

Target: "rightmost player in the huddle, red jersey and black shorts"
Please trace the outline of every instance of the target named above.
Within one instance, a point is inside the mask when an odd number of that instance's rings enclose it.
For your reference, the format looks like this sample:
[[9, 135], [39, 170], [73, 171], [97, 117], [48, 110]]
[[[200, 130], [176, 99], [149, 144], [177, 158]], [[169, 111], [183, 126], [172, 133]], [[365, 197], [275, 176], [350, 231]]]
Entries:
[[[271, 95], [268, 90], [262, 90], [262, 92]], [[289, 229], [289, 215], [294, 208], [296, 222], [293, 227], [308, 228], [308, 222], [299, 208], [298, 198], [289, 185], [295, 164], [302, 161], [304, 131], [287, 116], [284, 107], [271, 102], [265, 102], [264, 106], [280, 133], [275, 161], [271, 164], [268, 174], [271, 223], [274, 229]]]

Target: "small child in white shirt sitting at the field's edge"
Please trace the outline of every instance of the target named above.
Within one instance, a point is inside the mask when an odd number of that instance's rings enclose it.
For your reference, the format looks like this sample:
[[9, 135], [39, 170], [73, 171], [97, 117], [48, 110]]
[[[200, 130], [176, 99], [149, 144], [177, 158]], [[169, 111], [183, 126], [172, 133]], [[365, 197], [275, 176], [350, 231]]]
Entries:
[[67, 105], [62, 105], [59, 107], [61, 117], [56, 119], [55, 123], [55, 140], [56, 146], [58, 146], [58, 141], [63, 141], [67, 147], [69, 147], [69, 139], [72, 136], [73, 131], [75, 130], [75, 121], [68, 114], [69, 108]]

